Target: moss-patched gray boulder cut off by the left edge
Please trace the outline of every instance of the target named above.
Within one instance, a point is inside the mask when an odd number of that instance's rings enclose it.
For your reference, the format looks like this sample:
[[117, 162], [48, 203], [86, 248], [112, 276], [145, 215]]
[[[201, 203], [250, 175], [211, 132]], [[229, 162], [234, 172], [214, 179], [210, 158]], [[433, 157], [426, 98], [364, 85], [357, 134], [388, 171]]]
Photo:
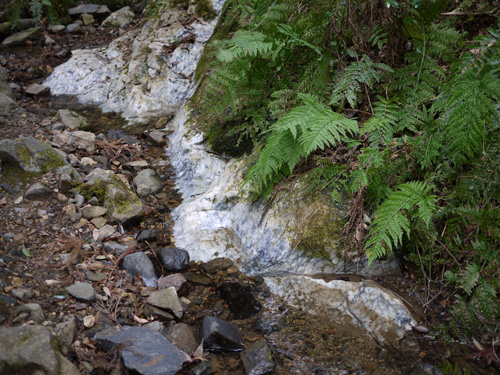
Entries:
[[33, 137], [0, 141], [0, 160], [12, 162], [25, 172], [48, 172], [67, 165], [56, 149]]

